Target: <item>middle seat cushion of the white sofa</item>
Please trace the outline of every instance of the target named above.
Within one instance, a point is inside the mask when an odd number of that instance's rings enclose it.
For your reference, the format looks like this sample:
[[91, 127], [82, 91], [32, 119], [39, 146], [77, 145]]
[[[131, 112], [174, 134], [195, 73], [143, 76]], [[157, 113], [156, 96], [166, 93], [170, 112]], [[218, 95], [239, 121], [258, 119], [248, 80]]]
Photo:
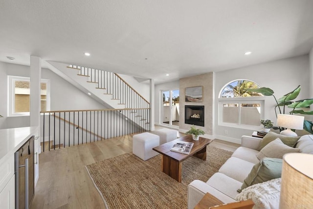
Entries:
[[243, 183], [254, 165], [254, 163], [231, 157], [224, 163], [219, 172]]

